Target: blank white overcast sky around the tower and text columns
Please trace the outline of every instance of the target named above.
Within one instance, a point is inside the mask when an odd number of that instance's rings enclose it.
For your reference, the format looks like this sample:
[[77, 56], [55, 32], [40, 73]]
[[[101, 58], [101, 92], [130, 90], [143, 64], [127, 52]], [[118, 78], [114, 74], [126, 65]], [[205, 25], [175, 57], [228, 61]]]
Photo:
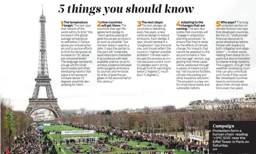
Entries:
[[[77, 5], [83, 6], [151, 6], [156, 1], [75, 1]], [[100, 2], [100, 3], [99, 3]], [[114, 3], [115, 2], [115, 3]], [[146, 2], [146, 3], [145, 3]], [[161, 1], [157, 4], [169, 4], [170, 6], [194, 6], [191, 14], [68, 14], [58, 13], [60, 4], [72, 5], [74, 1], [13, 1], [1, 2], [1, 37], [0, 37], [0, 94], [2, 97], [10, 98], [15, 110], [25, 110], [28, 100], [32, 97], [37, 76], [39, 60], [39, 37], [40, 23], [39, 16], [42, 14], [44, 3], [44, 14], [46, 16], [46, 41], [48, 71], [51, 77], [51, 86], [54, 96], [58, 98], [61, 109], [86, 110], [98, 109], [122, 109], [122, 108], [143, 108], [143, 106], [164, 106], [174, 105], [185, 107], [193, 100], [213, 100], [215, 97], [229, 99], [232, 97], [244, 97], [245, 93], [255, 92], [256, 86], [256, 48], [255, 48], [255, 4], [253, 0], [228, 1], [214, 0], [190, 1], [182, 3], [178, 1]], [[87, 30], [93, 31], [89, 39], [93, 45], [92, 74], [87, 77], [91, 82], [83, 87], [61, 87], [60, 86], [60, 21], [88, 21], [92, 27]], [[128, 36], [132, 38], [130, 54], [132, 68], [130, 70], [131, 80], [114, 81], [114, 83], [96, 82], [96, 25], [97, 21], [122, 21], [127, 25]], [[164, 21], [167, 24], [167, 33], [170, 34], [172, 44], [173, 64], [172, 70], [161, 77], [136, 77], [136, 32], [137, 21]], [[176, 90], [176, 23], [177, 21], [201, 20], [208, 29], [209, 50], [211, 51], [211, 80], [210, 87], [201, 90]], [[215, 25], [217, 20], [225, 21], [250, 21], [249, 37], [251, 69], [248, 72], [249, 86], [239, 91], [217, 91], [215, 90]], [[46, 95], [45, 90], [40, 90], [40, 97]]]

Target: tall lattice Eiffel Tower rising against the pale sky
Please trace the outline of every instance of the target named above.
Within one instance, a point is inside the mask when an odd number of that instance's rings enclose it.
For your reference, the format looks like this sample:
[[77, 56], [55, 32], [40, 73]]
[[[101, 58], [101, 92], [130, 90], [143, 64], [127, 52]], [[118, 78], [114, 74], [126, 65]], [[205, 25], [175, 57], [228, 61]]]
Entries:
[[[42, 15], [39, 22], [41, 23], [40, 32], [40, 51], [39, 51], [39, 64], [38, 73], [36, 77], [36, 86], [33, 92], [32, 98], [29, 99], [29, 105], [25, 113], [31, 115], [34, 111], [45, 108], [54, 113], [55, 117], [64, 117], [63, 112], [57, 103], [57, 98], [54, 97], [53, 90], [51, 88], [51, 78], [48, 74], [47, 57], [46, 57], [46, 40], [45, 40], [45, 23], [46, 19], [42, 9]], [[45, 86], [48, 98], [38, 98], [40, 86]]]

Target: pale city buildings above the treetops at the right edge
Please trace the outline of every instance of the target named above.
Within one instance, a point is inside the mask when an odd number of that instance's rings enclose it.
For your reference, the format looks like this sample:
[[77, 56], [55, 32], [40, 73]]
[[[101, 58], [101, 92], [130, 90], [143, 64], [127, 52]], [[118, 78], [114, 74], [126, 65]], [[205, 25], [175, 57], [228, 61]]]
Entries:
[[245, 94], [244, 98], [231, 98], [228, 100], [196, 100], [189, 103], [187, 110], [195, 111], [197, 109], [205, 110], [230, 110], [237, 108], [254, 108], [256, 109], [256, 93]]

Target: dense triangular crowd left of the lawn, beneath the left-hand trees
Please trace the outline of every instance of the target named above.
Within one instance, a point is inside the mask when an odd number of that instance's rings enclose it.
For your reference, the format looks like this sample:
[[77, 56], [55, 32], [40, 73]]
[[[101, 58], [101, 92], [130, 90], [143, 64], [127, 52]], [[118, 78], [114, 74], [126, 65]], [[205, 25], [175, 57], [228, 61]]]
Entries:
[[17, 137], [12, 149], [5, 151], [6, 154], [43, 154], [39, 131], [31, 125]]

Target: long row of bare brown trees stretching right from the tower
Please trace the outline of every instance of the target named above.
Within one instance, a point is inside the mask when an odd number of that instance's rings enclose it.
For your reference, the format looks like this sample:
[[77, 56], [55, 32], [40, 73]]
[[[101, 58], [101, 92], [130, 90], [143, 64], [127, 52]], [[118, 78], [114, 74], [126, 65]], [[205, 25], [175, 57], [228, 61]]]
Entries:
[[57, 120], [68, 121], [71, 123], [83, 123], [95, 126], [117, 127], [128, 131], [143, 131], [152, 133], [167, 133], [173, 132], [177, 137], [177, 133], [182, 131], [185, 138], [193, 130], [193, 134], [202, 135], [205, 139], [205, 134], [209, 128], [209, 121], [234, 121], [234, 120], [255, 120], [256, 111], [252, 109], [235, 109], [228, 111], [172, 111], [167, 108], [164, 111], [150, 111], [149, 108], [144, 108], [143, 112], [119, 114], [86, 114], [80, 117], [62, 117]]

